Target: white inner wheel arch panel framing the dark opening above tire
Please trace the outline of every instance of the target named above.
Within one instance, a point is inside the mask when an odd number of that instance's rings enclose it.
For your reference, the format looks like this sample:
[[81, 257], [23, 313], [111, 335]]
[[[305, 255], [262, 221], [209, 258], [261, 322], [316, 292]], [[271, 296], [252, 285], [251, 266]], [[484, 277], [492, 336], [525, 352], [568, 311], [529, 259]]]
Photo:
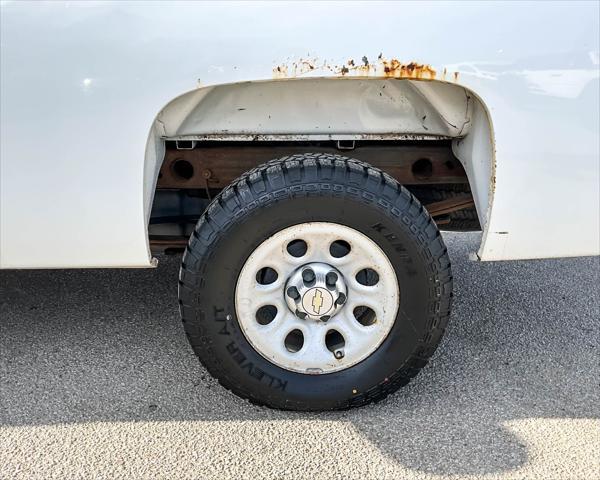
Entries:
[[[146, 228], [167, 140], [438, 139], [453, 140], [485, 239], [495, 192], [495, 145], [489, 110], [472, 90], [446, 80], [361, 76], [201, 87], [168, 102], [150, 128], [144, 160]], [[147, 247], [150, 256], [149, 242]]]

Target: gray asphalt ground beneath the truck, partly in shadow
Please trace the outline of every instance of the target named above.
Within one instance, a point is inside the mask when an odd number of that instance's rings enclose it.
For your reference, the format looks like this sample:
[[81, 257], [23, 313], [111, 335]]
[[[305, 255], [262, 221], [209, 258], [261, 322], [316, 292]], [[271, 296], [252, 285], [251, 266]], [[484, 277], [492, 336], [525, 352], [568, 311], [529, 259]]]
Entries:
[[[0, 272], [0, 477], [600, 478], [598, 258], [467, 260], [433, 360], [377, 405], [272, 411], [221, 388], [156, 270]], [[543, 240], [543, 239], [540, 239]]]

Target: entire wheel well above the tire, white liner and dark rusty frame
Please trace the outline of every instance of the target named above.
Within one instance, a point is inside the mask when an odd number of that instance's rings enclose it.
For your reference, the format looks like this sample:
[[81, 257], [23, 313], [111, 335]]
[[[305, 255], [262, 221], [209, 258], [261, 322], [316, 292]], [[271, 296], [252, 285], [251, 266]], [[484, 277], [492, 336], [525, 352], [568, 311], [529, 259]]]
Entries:
[[492, 128], [472, 92], [398, 79], [246, 82], [189, 92], [157, 116], [145, 162], [152, 249], [182, 249], [210, 200], [245, 171], [308, 152], [381, 168], [441, 228], [485, 227], [494, 186]]

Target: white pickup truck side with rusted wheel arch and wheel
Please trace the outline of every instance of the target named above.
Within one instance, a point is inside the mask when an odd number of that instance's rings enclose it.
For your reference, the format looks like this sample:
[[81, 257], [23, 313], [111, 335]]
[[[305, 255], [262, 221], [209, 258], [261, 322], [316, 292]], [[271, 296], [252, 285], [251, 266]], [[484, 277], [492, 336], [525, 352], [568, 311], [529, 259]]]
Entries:
[[598, 2], [0, 8], [0, 267], [183, 253], [192, 347], [253, 402], [414, 377], [440, 230], [481, 230], [474, 261], [600, 253]]

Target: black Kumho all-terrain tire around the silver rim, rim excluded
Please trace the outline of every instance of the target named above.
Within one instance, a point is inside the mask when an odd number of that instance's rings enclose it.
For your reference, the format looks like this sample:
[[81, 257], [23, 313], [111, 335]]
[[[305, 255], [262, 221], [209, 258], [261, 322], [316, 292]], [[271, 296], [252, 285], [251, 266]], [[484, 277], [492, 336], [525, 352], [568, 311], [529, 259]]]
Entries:
[[[257, 353], [240, 329], [234, 300], [237, 277], [254, 249], [310, 221], [367, 235], [388, 256], [400, 287], [396, 321], [379, 348], [323, 375], [292, 372]], [[447, 250], [419, 201], [380, 170], [328, 154], [274, 160], [224, 189], [198, 221], [179, 277], [185, 331], [207, 370], [240, 397], [290, 410], [365, 405], [407, 384], [434, 353], [451, 300]]]

